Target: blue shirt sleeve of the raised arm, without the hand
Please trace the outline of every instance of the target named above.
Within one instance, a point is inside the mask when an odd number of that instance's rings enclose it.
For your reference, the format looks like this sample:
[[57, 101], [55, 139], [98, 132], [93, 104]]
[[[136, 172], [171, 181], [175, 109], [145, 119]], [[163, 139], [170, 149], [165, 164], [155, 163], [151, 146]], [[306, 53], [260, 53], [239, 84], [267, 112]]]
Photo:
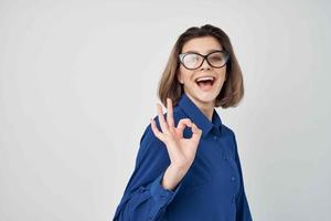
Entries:
[[[158, 120], [156, 122], [159, 127]], [[163, 220], [168, 204], [173, 200], [182, 183], [181, 181], [173, 190], [167, 190], [161, 186], [169, 165], [167, 147], [154, 136], [149, 125], [140, 139], [135, 170], [113, 221]]]

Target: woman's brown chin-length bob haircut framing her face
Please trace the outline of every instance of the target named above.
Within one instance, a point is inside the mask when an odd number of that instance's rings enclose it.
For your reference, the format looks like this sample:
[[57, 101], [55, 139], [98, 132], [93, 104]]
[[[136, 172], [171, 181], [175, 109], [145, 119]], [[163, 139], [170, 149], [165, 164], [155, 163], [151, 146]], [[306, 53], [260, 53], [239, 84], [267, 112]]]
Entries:
[[178, 104], [184, 92], [183, 85], [178, 81], [179, 67], [181, 65], [179, 54], [182, 53], [185, 42], [200, 36], [214, 36], [223, 50], [229, 52], [229, 59], [226, 63], [225, 82], [220, 94], [216, 96], [215, 107], [222, 106], [223, 108], [227, 108], [237, 106], [244, 96], [243, 74], [229, 38], [223, 30], [211, 24], [205, 24], [201, 28], [191, 27], [177, 40], [158, 86], [158, 96], [161, 103], [167, 106], [167, 97], [169, 97], [172, 99], [173, 106]]

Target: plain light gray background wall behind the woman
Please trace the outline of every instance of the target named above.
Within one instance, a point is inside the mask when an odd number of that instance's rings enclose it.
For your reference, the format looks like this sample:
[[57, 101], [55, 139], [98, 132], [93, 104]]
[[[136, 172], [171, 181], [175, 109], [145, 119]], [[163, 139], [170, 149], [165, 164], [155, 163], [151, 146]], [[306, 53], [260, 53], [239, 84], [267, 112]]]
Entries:
[[[231, 36], [254, 220], [331, 220], [330, 2], [0, 1], [0, 220], [110, 220], [174, 41]], [[131, 59], [127, 59], [130, 55]]]

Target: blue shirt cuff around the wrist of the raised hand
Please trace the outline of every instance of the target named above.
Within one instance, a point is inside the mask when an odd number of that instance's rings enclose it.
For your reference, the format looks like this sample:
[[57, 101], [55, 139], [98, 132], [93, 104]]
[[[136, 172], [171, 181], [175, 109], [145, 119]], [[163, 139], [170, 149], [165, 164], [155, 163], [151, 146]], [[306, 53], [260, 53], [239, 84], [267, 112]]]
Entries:
[[156, 203], [159, 206], [164, 206], [166, 203], [169, 203], [172, 201], [177, 192], [182, 186], [182, 181], [180, 181], [174, 190], [167, 190], [162, 187], [161, 180], [164, 176], [164, 172], [162, 172], [152, 183], [150, 187], [150, 193]]

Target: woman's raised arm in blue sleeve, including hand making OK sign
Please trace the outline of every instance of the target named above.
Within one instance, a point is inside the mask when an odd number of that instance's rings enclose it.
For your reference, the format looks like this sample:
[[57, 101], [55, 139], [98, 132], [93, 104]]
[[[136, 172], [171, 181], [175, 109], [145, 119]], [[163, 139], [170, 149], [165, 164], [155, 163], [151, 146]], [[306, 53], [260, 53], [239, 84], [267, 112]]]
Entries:
[[[202, 130], [189, 118], [175, 120], [170, 98], [167, 99], [167, 120], [161, 105], [157, 106], [158, 119], [151, 120], [140, 139], [135, 171], [114, 220], [162, 218], [194, 160]], [[192, 128], [191, 138], [183, 137], [186, 126]]]

